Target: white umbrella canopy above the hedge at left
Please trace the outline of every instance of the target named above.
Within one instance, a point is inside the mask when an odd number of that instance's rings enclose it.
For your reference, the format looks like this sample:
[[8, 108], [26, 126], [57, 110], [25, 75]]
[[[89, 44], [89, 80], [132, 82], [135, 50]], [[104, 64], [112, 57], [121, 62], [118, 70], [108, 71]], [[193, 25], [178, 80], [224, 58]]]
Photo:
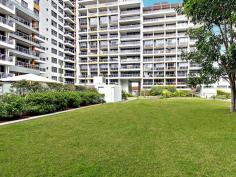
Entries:
[[43, 82], [43, 83], [58, 83], [57, 81], [48, 79], [46, 77], [38, 76], [35, 74], [24, 74], [19, 76], [7, 77], [0, 79], [2, 82], [17, 82], [17, 81], [34, 81], [34, 82]]

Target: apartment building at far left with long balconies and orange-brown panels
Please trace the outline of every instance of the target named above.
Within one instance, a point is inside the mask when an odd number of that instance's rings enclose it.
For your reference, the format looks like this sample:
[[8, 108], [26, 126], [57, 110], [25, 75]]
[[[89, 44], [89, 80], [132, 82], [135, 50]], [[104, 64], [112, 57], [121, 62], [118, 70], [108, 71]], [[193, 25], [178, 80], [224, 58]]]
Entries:
[[40, 75], [44, 42], [39, 34], [39, 4], [33, 0], [0, 0], [0, 78]]

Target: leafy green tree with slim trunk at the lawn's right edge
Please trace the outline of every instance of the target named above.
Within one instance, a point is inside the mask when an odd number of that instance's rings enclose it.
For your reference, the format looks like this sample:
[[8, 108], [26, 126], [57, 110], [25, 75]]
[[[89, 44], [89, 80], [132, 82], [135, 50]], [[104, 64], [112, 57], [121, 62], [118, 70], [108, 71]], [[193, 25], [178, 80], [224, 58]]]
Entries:
[[184, 0], [179, 9], [196, 28], [189, 30], [196, 39], [196, 50], [185, 53], [183, 59], [201, 64], [200, 76], [204, 83], [220, 78], [231, 87], [231, 112], [236, 111], [236, 1]]

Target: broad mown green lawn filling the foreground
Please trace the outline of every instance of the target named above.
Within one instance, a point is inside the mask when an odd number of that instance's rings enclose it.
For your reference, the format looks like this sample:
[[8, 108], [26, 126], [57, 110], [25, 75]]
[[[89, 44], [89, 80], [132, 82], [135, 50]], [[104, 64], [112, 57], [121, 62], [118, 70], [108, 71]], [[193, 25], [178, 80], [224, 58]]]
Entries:
[[1, 126], [0, 176], [235, 177], [236, 114], [221, 101], [135, 100]]

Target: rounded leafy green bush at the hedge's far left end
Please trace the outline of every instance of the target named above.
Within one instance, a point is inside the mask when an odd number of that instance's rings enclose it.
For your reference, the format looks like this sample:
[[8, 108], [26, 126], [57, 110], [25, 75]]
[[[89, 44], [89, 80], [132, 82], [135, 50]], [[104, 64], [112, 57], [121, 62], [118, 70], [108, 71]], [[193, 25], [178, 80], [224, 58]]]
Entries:
[[0, 118], [17, 118], [25, 108], [25, 99], [22, 96], [7, 94], [0, 100]]

